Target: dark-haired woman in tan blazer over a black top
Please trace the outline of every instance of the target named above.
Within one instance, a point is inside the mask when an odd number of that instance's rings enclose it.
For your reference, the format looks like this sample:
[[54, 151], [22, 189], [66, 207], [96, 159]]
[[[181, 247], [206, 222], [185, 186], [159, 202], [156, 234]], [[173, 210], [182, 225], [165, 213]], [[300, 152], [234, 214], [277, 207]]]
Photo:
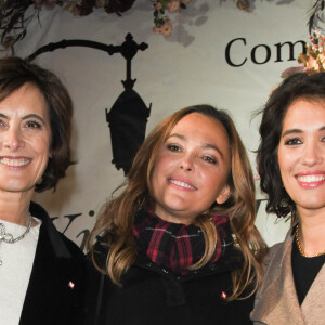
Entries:
[[288, 218], [271, 248], [251, 318], [256, 324], [323, 324], [325, 318], [325, 74], [300, 73], [271, 94], [257, 162], [266, 211]]

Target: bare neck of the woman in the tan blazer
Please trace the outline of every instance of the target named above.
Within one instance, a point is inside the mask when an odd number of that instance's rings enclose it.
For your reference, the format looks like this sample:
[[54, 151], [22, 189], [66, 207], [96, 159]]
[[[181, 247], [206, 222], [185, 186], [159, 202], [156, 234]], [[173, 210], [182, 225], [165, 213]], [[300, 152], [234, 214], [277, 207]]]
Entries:
[[299, 240], [308, 257], [325, 252], [325, 210], [298, 211]]

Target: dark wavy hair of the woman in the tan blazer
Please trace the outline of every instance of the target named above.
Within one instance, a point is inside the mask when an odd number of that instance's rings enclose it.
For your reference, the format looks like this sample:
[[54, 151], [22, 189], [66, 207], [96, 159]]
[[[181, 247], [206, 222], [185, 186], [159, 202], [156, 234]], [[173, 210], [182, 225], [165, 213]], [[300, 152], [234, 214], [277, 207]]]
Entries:
[[281, 139], [283, 120], [288, 107], [297, 100], [325, 100], [325, 73], [307, 75], [295, 74], [285, 79], [269, 98], [262, 113], [260, 125], [260, 145], [257, 165], [261, 178], [261, 190], [268, 194], [266, 212], [277, 217], [291, 213], [292, 222], [297, 219], [296, 204], [283, 186], [277, 147]]

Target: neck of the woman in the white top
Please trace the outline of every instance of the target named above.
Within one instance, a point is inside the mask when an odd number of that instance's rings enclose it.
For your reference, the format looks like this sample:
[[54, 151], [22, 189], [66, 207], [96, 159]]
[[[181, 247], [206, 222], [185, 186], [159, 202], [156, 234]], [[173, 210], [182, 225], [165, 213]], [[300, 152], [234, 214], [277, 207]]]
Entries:
[[0, 219], [27, 225], [32, 192], [0, 192]]

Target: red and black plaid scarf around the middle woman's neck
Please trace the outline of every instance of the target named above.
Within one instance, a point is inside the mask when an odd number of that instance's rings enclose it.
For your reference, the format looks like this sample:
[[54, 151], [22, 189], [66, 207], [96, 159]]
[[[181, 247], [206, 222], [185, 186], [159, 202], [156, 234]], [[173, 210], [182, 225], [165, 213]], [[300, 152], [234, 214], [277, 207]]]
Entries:
[[[212, 216], [211, 220], [218, 232], [218, 244], [211, 260], [214, 263], [233, 239], [226, 217]], [[204, 234], [198, 226], [171, 223], [146, 209], [138, 211], [133, 234], [139, 255], [176, 274], [186, 274], [186, 269], [199, 261], [205, 251]]]

